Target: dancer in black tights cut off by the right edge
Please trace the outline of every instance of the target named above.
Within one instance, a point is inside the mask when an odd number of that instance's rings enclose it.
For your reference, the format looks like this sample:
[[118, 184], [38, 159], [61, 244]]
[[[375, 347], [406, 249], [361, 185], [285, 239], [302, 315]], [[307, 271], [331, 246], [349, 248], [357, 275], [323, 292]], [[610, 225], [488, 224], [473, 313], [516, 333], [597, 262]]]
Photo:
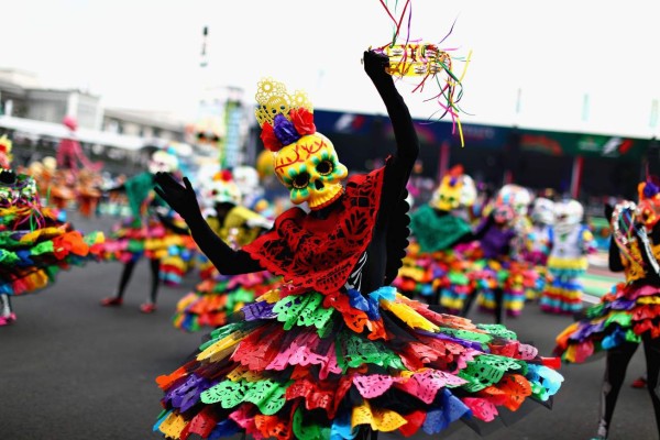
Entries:
[[[609, 268], [623, 271], [626, 282], [617, 284], [590, 307], [585, 318], [557, 337], [554, 352], [565, 362], [585, 362], [606, 352], [597, 435], [606, 439], [617, 397], [630, 359], [640, 342], [647, 364], [647, 388], [660, 436], [660, 180], [640, 184], [639, 205], [619, 204], [612, 219]], [[610, 208], [612, 209], [612, 208]], [[632, 436], [635, 437], [635, 436]]]

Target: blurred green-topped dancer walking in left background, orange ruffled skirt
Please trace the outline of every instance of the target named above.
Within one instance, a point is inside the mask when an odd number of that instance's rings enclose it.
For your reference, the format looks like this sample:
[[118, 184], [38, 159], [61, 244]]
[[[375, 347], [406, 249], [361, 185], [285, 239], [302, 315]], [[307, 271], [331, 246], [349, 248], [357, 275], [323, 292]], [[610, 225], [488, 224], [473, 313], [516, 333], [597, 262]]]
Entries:
[[[105, 244], [105, 258], [120, 261], [123, 268], [116, 294], [103, 298], [101, 306], [119, 307], [123, 304], [135, 265], [143, 255], [148, 258], [152, 276], [148, 299], [140, 306], [143, 314], [156, 310], [162, 279], [176, 283], [180, 278], [185, 264], [178, 255], [189, 253], [195, 244], [187, 228], [177, 224], [174, 212], [153, 193], [155, 174], [174, 172], [177, 167], [178, 158], [174, 154], [157, 151], [152, 155], [147, 172], [110, 189], [127, 194], [132, 216], [113, 227], [113, 232]], [[164, 260], [173, 254], [173, 250], [176, 250], [175, 263], [166, 266]]]

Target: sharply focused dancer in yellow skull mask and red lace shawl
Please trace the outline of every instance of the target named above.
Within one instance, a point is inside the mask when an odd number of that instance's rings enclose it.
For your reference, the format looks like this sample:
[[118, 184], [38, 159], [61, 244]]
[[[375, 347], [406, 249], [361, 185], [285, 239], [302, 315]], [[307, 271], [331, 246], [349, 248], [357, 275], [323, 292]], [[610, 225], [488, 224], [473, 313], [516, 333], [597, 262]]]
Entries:
[[[418, 154], [408, 109], [388, 58], [364, 53], [396, 138], [386, 165], [355, 175], [316, 132], [311, 105], [267, 80], [257, 120], [292, 208], [272, 231], [234, 251], [208, 227], [194, 189], [158, 174], [156, 191], [188, 223], [223, 274], [268, 270], [285, 283], [242, 310], [195, 359], [157, 378], [168, 438], [364, 438], [373, 431], [428, 433], [457, 420], [492, 421], [496, 406], [547, 399], [561, 376], [501, 326], [436, 314], [389, 286], [407, 245], [406, 183]], [[479, 342], [476, 342], [479, 341]], [[450, 389], [451, 388], [451, 389]]]

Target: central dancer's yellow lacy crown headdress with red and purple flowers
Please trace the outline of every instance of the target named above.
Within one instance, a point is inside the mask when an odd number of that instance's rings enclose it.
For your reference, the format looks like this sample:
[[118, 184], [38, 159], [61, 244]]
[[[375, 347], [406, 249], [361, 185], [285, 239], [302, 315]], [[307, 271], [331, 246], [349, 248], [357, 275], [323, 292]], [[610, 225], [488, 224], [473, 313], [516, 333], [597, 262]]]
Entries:
[[264, 78], [257, 84], [255, 99], [258, 107], [254, 116], [262, 128], [261, 139], [270, 151], [276, 153], [316, 133], [314, 107], [305, 91], [290, 95], [284, 84]]

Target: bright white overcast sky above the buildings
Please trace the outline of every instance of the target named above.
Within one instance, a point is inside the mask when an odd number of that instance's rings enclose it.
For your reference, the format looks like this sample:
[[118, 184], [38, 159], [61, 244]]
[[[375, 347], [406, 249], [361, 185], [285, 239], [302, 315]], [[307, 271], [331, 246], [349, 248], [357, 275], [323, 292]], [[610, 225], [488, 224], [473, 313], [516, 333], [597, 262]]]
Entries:
[[[399, 8], [405, 0], [399, 0]], [[395, 1], [387, 1], [392, 10]], [[413, 0], [410, 37], [472, 52], [463, 123], [651, 138], [660, 134], [660, 2]], [[363, 51], [392, 38], [380, 0], [0, 0], [0, 68], [43, 86], [101, 96], [107, 107], [195, 119], [204, 90], [254, 102], [272, 77], [316, 108], [385, 113]], [[200, 67], [208, 26], [208, 66]], [[454, 62], [462, 73], [465, 64]], [[438, 109], [397, 87], [415, 118]], [[585, 105], [586, 102], [586, 105]]]

